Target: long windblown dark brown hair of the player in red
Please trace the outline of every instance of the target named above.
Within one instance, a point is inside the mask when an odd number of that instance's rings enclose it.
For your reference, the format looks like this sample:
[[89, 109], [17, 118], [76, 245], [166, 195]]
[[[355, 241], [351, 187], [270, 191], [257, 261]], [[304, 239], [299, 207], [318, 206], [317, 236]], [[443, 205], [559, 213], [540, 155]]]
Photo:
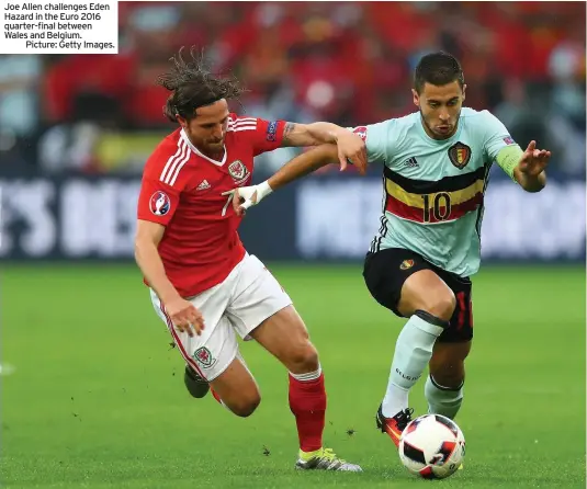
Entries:
[[212, 73], [205, 64], [204, 50], [195, 46], [190, 48], [191, 59], [185, 61], [183, 47], [169, 60], [171, 69], [157, 78], [157, 84], [169, 90], [163, 114], [171, 122], [178, 122], [178, 115], [188, 121], [195, 117], [195, 111], [213, 104], [221, 99], [238, 99], [244, 88], [233, 76]]

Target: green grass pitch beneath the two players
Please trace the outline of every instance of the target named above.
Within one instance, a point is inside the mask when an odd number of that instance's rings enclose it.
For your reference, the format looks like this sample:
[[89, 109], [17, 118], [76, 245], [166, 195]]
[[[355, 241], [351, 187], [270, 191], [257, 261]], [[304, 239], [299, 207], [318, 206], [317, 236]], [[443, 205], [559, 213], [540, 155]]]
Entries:
[[[585, 270], [485, 269], [458, 422], [465, 469], [413, 478], [374, 429], [402, 321], [358, 266], [271, 266], [325, 368], [326, 441], [363, 474], [296, 473], [286, 373], [244, 346], [263, 400], [238, 419], [184, 391], [183, 365], [133, 266], [4, 266], [4, 488], [585, 488]], [[422, 413], [424, 383], [411, 394]], [[349, 436], [347, 430], [355, 430]], [[263, 455], [267, 447], [270, 455]]]

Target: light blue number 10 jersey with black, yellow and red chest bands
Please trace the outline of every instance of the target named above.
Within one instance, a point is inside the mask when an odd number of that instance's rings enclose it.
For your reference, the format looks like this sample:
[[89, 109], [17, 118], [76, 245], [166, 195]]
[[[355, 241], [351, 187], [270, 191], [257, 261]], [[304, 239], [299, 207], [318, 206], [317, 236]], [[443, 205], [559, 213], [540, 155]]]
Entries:
[[516, 145], [487, 111], [463, 107], [456, 133], [432, 139], [419, 112], [357, 127], [383, 168], [381, 227], [370, 251], [404, 248], [461, 276], [481, 263], [483, 200], [498, 152]]

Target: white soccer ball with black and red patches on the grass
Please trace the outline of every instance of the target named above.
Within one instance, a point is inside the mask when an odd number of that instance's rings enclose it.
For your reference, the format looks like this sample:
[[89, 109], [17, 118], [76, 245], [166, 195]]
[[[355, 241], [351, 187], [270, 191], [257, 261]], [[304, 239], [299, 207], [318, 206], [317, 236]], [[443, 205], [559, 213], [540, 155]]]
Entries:
[[454, 474], [465, 457], [463, 432], [440, 414], [413, 420], [399, 439], [399, 458], [411, 473], [425, 479], [443, 479]]

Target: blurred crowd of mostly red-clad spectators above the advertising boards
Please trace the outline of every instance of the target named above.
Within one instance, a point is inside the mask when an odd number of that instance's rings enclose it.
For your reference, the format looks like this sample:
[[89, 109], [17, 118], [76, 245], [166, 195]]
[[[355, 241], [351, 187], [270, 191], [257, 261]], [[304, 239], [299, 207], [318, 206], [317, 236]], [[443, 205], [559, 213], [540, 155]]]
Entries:
[[[554, 171], [585, 177], [585, 2], [120, 2], [118, 55], [0, 56], [0, 172], [137, 173], [174, 127], [156, 87], [181, 46], [249, 89], [235, 111], [343, 126], [414, 111], [419, 57], [462, 62], [493, 111]], [[272, 171], [294, 150], [260, 160]]]

